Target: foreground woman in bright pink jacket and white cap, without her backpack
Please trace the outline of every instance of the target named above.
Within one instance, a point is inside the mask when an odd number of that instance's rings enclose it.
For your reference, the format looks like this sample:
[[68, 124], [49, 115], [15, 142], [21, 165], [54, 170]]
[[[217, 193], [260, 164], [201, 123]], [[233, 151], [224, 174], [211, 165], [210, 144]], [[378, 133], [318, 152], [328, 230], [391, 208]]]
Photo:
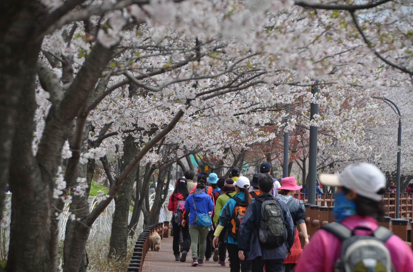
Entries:
[[[384, 215], [381, 204], [386, 191], [386, 177], [374, 165], [358, 163], [348, 166], [340, 175], [321, 174], [323, 185], [337, 186], [334, 216], [336, 222], [354, 231], [356, 235], [370, 235], [377, 228], [377, 221], [370, 215]], [[370, 229], [367, 230], [367, 229]], [[320, 229], [310, 237], [294, 272], [334, 272], [334, 265], [341, 258], [342, 241], [334, 234]], [[396, 235], [385, 242], [394, 272], [413, 271], [413, 253]]]

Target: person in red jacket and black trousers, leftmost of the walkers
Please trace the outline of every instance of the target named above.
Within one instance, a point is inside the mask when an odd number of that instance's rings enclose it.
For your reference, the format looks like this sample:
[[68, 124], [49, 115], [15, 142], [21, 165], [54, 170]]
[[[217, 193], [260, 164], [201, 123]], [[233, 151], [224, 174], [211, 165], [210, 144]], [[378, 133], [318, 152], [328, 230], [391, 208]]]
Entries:
[[[185, 200], [189, 195], [188, 186], [185, 177], [178, 178], [176, 182], [175, 189], [169, 197], [168, 210], [172, 211], [172, 230], [173, 230], [173, 241], [172, 249], [173, 255], [175, 255], [176, 261], [185, 262], [186, 255], [188, 254], [190, 247], [190, 236], [188, 225], [181, 226], [183, 211], [185, 210]], [[180, 232], [182, 231], [183, 242], [181, 244], [182, 255], [180, 256], [179, 240]]]

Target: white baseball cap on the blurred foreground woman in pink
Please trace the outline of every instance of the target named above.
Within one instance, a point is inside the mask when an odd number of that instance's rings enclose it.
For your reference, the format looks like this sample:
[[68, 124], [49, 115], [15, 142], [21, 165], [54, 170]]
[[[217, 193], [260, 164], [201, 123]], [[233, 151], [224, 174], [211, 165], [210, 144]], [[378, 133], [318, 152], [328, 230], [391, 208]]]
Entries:
[[382, 199], [377, 192], [386, 187], [386, 177], [377, 166], [370, 163], [357, 163], [344, 168], [339, 175], [321, 174], [320, 182], [327, 186], [346, 187], [357, 194], [375, 201]]

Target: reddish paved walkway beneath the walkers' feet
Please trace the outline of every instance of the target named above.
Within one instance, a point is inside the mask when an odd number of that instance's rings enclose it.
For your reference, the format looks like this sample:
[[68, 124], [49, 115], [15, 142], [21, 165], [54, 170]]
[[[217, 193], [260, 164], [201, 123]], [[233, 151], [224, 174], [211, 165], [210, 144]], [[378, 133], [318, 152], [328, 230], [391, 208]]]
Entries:
[[162, 239], [161, 246], [161, 251], [148, 251], [143, 263], [142, 272], [229, 272], [230, 270], [228, 261], [227, 266], [222, 267], [215, 263], [212, 258], [210, 261], [205, 262], [203, 266], [197, 267], [191, 267], [192, 258], [190, 258], [190, 255], [186, 258], [185, 263], [175, 261], [172, 250], [172, 237]]

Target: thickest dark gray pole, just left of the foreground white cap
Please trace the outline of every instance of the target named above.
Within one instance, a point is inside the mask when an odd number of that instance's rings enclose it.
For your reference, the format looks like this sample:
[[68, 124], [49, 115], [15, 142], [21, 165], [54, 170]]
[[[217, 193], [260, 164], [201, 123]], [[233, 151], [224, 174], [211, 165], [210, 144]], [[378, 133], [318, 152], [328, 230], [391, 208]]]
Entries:
[[[318, 80], [316, 84], [318, 84]], [[311, 86], [311, 94], [318, 99], [317, 85]], [[310, 121], [314, 119], [314, 114], [318, 114], [318, 103], [311, 103]], [[316, 204], [316, 181], [317, 181], [317, 134], [318, 127], [310, 126], [310, 149], [309, 149], [309, 184], [308, 203]]]

